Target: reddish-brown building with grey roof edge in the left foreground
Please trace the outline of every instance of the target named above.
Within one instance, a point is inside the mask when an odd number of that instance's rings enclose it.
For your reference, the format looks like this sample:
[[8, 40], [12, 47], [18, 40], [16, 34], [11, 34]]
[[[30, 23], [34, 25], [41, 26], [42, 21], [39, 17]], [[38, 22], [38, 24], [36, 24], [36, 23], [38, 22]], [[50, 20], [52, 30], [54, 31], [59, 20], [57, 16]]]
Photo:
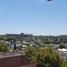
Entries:
[[0, 53], [0, 67], [36, 67], [23, 53]]

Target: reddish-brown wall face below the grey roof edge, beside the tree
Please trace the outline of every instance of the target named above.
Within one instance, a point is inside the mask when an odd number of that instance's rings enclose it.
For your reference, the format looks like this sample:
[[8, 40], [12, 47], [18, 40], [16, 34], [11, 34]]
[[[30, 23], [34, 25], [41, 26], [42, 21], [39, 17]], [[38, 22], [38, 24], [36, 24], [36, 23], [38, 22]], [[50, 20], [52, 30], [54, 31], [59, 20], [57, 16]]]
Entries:
[[0, 67], [35, 67], [25, 56], [0, 58]]

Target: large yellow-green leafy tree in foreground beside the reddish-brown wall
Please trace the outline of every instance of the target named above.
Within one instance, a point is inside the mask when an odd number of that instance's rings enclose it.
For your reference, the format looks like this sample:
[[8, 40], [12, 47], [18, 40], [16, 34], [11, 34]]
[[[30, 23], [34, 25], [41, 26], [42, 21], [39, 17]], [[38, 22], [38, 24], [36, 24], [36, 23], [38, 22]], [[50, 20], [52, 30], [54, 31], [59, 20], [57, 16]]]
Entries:
[[[29, 47], [31, 48], [31, 47]], [[51, 48], [26, 49], [26, 56], [36, 63], [36, 67], [62, 67], [62, 59]]]

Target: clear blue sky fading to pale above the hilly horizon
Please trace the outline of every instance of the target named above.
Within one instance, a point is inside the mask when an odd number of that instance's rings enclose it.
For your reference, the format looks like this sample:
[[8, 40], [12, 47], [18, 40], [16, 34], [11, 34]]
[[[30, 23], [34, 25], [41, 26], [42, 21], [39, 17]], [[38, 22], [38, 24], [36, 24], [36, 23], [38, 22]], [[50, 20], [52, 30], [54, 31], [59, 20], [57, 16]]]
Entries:
[[0, 0], [0, 34], [67, 34], [67, 0]]

